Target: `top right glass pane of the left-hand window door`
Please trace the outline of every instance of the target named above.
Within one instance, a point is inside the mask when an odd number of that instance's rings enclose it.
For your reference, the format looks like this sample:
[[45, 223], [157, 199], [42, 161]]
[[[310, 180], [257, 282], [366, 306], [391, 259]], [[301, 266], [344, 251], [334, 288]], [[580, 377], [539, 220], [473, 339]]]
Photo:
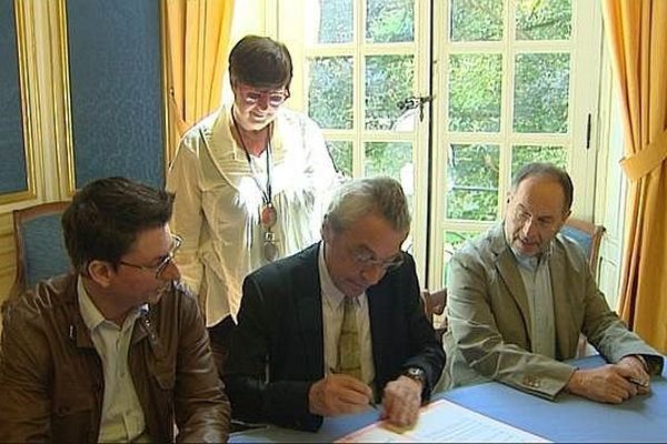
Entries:
[[368, 43], [414, 41], [414, 0], [367, 0], [366, 41]]

